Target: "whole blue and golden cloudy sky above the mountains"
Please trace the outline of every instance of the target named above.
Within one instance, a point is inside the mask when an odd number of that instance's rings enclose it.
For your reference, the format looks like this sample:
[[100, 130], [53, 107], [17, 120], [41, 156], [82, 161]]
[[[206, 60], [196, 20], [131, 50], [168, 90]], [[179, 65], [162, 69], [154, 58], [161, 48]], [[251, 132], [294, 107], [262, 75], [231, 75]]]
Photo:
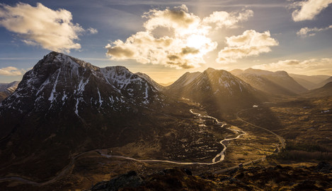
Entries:
[[160, 83], [207, 68], [332, 75], [332, 0], [1, 0], [0, 82], [50, 51]]

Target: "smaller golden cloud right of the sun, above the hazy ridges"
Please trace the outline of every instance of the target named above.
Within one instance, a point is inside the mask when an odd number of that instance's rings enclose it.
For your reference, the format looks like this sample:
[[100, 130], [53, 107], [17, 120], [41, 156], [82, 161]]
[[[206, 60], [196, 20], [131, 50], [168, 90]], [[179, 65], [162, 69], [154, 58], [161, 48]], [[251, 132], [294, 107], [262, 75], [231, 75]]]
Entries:
[[270, 32], [263, 33], [255, 30], [246, 30], [242, 35], [226, 37], [228, 47], [218, 53], [218, 63], [235, 62], [236, 59], [271, 51], [270, 47], [277, 46], [278, 42], [270, 37]]

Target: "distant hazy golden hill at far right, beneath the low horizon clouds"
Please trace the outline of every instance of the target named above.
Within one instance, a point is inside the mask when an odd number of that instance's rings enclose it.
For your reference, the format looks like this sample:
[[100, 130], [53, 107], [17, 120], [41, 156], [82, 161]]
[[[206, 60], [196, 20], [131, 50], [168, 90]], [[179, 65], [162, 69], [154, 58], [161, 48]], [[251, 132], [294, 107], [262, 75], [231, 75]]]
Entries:
[[290, 73], [290, 77], [294, 78], [300, 85], [307, 88], [308, 90], [314, 90], [316, 88], [322, 87], [327, 82], [324, 82], [331, 76], [329, 75], [299, 75]]

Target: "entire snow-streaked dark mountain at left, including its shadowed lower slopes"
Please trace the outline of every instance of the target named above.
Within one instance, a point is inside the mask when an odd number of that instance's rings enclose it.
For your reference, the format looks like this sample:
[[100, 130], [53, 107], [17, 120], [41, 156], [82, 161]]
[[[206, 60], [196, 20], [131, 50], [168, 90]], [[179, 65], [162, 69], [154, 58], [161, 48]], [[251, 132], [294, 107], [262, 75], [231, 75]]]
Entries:
[[0, 104], [0, 174], [47, 178], [79, 152], [151, 140], [174, 121], [165, 116], [174, 108], [181, 105], [125, 67], [51, 52]]

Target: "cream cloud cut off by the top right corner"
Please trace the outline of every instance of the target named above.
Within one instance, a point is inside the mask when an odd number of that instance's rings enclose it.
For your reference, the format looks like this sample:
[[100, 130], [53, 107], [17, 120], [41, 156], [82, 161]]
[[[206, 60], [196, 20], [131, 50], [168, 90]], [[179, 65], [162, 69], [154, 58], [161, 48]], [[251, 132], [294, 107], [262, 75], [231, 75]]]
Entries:
[[321, 11], [328, 7], [332, 0], [308, 0], [297, 1], [290, 5], [290, 8], [296, 8], [292, 13], [295, 22], [302, 20], [313, 20]]

